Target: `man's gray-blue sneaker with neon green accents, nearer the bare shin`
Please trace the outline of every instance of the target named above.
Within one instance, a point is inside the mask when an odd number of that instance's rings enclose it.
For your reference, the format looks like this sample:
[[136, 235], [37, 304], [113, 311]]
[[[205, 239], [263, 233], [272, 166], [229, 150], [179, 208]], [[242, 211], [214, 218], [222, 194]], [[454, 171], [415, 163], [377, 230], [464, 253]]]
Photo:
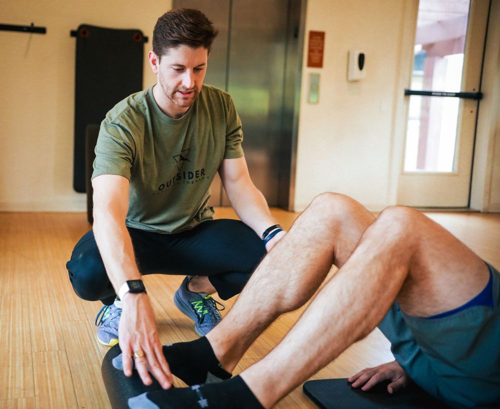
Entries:
[[[222, 316], [219, 311], [225, 307], [206, 293], [189, 291], [187, 284], [191, 278], [190, 275], [184, 278], [173, 296], [173, 302], [177, 308], [194, 321], [196, 333], [204, 336], [220, 322]], [[219, 308], [217, 304], [221, 305], [222, 308]]]

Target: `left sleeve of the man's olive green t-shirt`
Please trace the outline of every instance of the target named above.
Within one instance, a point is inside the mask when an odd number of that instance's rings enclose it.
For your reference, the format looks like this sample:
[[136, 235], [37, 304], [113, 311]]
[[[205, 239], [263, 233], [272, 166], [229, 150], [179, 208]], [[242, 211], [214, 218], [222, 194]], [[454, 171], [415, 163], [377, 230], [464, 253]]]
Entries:
[[104, 119], [95, 145], [92, 179], [101, 174], [118, 174], [130, 180], [135, 144], [122, 126]]

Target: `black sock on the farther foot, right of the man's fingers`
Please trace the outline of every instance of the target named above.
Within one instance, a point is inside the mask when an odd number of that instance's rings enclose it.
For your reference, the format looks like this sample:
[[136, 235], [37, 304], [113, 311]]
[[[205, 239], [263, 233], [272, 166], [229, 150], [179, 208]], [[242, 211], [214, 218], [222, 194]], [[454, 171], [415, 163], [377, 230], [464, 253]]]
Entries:
[[206, 337], [163, 346], [171, 372], [188, 385], [229, 379]]

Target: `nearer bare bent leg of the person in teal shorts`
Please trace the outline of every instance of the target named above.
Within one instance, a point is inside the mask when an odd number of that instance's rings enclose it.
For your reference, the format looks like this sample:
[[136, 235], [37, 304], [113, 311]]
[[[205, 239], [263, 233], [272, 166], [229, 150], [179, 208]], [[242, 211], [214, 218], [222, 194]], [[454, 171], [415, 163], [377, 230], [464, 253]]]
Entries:
[[482, 260], [441, 226], [416, 210], [388, 208], [283, 340], [241, 377], [271, 407], [368, 334], [396, 298], [406, 313], [428, 316], [462, 305], [487, 280]]

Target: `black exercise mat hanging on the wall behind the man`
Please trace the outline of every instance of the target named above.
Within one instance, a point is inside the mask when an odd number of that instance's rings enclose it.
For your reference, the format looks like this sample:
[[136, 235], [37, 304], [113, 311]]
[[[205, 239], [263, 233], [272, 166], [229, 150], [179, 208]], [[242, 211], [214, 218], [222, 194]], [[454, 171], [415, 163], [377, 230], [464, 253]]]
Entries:
[[81, 24], [76, 31], [73, 187], [85, 192], [85, 128], [142, 89], [144, 36], [138, 29]]

